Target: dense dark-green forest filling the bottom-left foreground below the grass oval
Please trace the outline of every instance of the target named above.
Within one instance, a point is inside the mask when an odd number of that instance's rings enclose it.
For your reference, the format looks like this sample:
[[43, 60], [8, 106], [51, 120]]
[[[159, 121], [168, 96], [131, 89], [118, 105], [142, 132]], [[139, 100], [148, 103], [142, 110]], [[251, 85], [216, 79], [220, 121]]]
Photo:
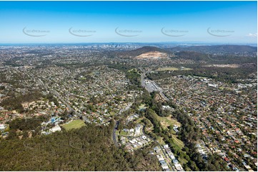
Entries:
[[[114, 122], [113, 122], [114, 123]], [[33, 139], [0, 142], [1, 171], [160, 171], [148, 149], [125, 153], [111, 140], [113, 125], [88, 125]]]

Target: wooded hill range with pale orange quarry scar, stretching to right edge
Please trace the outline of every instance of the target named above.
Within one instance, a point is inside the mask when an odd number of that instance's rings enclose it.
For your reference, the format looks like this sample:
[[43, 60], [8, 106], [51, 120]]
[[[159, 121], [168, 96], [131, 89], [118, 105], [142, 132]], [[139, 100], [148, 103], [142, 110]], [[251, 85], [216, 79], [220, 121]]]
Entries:
[[[113, 51], [113, 55], [119, 58], [134, 58], [134, 59], [162, 59], [175, 58], [194, 61], [224, 61], [224, 62], [249, 62], [253, 58], [248, 57], [233, 57], [234, 53], [255, 53], [257, 47], [249, 45], [196, 45], [189, 47], [174, 47], [174, 48], [158, 48], [154, 46], [144, 46], [135, 50]], [[209, 58], [207, 53], [230, 53], [230, 55], [217, 58]], [[233, 56], [232, 56], [233, 55]]]

